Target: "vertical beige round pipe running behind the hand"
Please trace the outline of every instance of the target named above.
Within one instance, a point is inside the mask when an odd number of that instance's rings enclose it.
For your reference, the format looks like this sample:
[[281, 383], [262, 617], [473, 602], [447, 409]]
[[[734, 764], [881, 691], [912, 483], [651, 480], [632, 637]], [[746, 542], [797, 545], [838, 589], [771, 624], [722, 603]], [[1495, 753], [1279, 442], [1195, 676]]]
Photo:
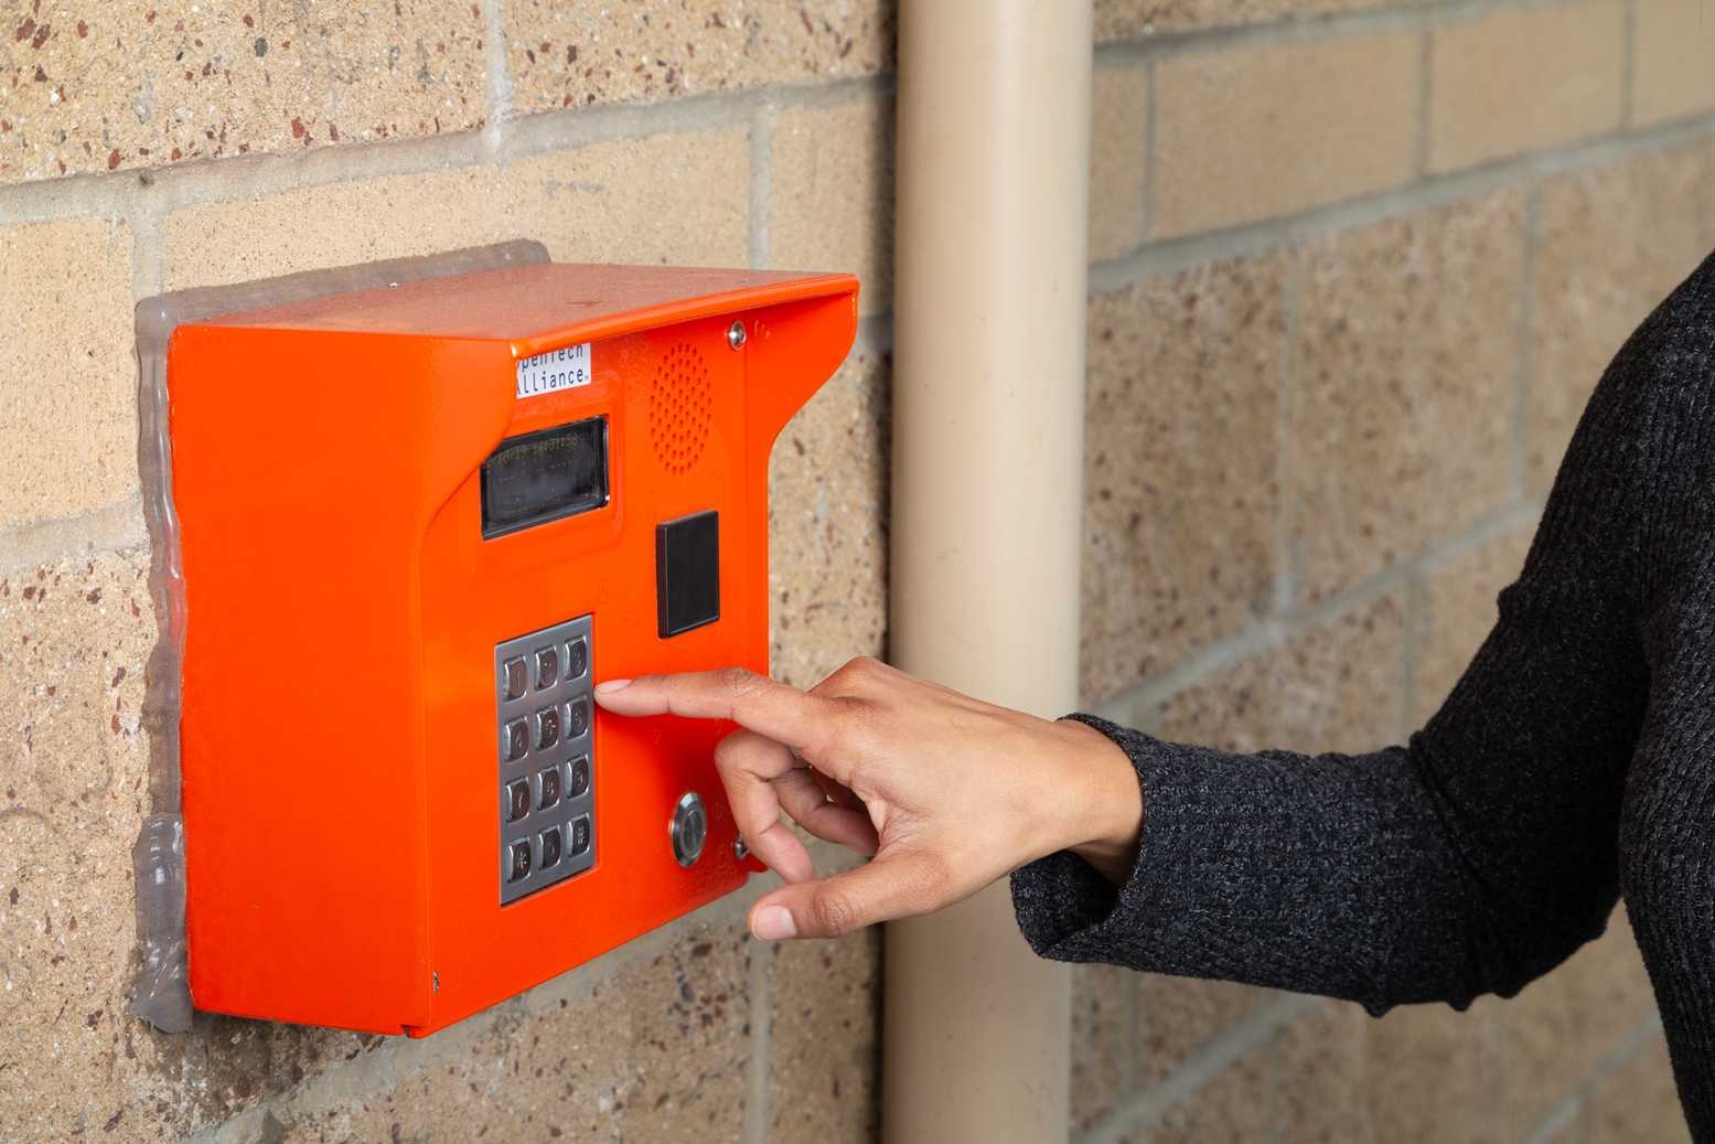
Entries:
[[[904, 0], [890, 650], [1077, 703], [1089, 0]], [[1067, 1135], [1070, 979], [1005, 885], [887, 930], [883, 1137]]]

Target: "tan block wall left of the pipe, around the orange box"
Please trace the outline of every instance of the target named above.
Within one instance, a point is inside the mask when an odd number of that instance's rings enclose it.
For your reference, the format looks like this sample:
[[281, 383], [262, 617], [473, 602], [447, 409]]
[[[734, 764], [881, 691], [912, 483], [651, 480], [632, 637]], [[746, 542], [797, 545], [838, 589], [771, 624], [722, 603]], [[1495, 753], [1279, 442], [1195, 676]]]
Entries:
[[892, 43], [880, 0], [0, 5], [0, 1141], [871, 1139], [880, 935], [755, 945], [760, 885], [427, 1041], [129, 1015], [130, 314], [513, 237], [858, 269], [773, 470], [775, 662], [813, 681], [883, 650]]

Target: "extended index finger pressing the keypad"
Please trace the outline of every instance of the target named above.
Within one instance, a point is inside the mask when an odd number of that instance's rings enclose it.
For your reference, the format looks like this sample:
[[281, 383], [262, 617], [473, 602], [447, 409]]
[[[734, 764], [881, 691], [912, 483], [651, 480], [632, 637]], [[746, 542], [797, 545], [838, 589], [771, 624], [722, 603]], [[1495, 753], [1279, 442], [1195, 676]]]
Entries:
[[595, 701], [616, 715], [731, 719], [804, 758], [825, 755], [821, 748], [837, 715], [832, 700], [743, 667], [609, 679], [595, 686]]

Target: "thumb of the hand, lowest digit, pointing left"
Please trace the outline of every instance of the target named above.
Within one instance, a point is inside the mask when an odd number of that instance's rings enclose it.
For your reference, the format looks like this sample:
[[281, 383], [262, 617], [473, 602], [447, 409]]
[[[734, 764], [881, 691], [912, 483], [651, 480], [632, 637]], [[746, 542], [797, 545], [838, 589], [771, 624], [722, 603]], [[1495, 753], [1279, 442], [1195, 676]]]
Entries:
[[945, 863], [926, 851], [883, 851], [866, 866], [830, 878], [780, 887], [749, 912], [763, 942], [837, 938], [852, 930], [926, 914], [950, 897]]

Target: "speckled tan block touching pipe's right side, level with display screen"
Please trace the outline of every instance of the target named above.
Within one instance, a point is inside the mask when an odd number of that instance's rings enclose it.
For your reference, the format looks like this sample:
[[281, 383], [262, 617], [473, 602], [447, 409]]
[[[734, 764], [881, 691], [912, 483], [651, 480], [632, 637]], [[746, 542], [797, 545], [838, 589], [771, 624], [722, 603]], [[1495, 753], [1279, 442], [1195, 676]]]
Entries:
[[1269, 600], [1285, 273], [1264, 256], [1091, 298], [1086, 703]]

